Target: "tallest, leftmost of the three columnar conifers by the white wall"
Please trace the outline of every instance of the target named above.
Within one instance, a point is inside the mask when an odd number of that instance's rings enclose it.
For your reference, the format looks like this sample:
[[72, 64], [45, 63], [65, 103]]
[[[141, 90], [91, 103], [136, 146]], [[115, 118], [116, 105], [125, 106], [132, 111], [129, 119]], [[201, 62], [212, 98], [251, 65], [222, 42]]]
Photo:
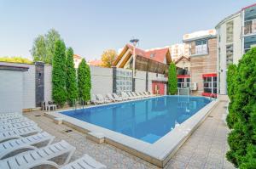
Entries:
[[66, 93], [66, 47], [61, 40], [55, 42], [55, 54], [52, 63], [52, 97], [56, 104], [63, 106]]

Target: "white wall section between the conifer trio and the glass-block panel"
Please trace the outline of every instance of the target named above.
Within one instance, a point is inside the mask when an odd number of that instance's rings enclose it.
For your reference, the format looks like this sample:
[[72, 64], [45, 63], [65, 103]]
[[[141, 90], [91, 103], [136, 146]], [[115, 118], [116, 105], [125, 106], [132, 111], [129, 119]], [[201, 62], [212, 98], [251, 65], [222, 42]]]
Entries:
[[91, 92], [93, 94], [107, 94], [113, 91], [113, 70], [90, 66]]

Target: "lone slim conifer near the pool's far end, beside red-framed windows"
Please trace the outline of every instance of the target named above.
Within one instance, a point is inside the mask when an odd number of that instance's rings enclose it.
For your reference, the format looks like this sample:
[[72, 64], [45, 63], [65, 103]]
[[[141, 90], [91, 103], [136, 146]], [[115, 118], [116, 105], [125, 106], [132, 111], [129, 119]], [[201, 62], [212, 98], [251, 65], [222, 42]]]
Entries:
[[168, 94], [174, 95], [177, 93], [177, 75], [176, 65], [171, 63], [168, 71]]

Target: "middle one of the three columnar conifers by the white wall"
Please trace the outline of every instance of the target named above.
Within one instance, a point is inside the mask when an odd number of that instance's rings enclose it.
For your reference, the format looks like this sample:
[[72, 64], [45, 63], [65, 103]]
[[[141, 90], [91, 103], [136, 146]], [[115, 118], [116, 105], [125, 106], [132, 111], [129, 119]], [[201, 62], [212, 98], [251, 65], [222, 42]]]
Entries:
[[66, 60], [66, 72], [67, 72], [67, 100], [69, 104], [73, 104], [73, 99], [78, 98], [78, 86], [76, 79], [76, 70], [73, 63], [73, 49], [67, 48], [67, 60]]

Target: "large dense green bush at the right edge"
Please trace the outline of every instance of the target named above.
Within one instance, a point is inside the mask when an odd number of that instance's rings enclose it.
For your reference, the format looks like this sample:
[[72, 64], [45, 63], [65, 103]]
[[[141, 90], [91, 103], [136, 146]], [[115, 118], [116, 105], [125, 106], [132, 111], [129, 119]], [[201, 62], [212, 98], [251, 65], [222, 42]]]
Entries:
[[237, 167], [256, 168], [256, 48], [243, 55], [237, 68], [230, 67], [227, 80], [231, 100], [227, 121], [232, 128], [227, 158]]

